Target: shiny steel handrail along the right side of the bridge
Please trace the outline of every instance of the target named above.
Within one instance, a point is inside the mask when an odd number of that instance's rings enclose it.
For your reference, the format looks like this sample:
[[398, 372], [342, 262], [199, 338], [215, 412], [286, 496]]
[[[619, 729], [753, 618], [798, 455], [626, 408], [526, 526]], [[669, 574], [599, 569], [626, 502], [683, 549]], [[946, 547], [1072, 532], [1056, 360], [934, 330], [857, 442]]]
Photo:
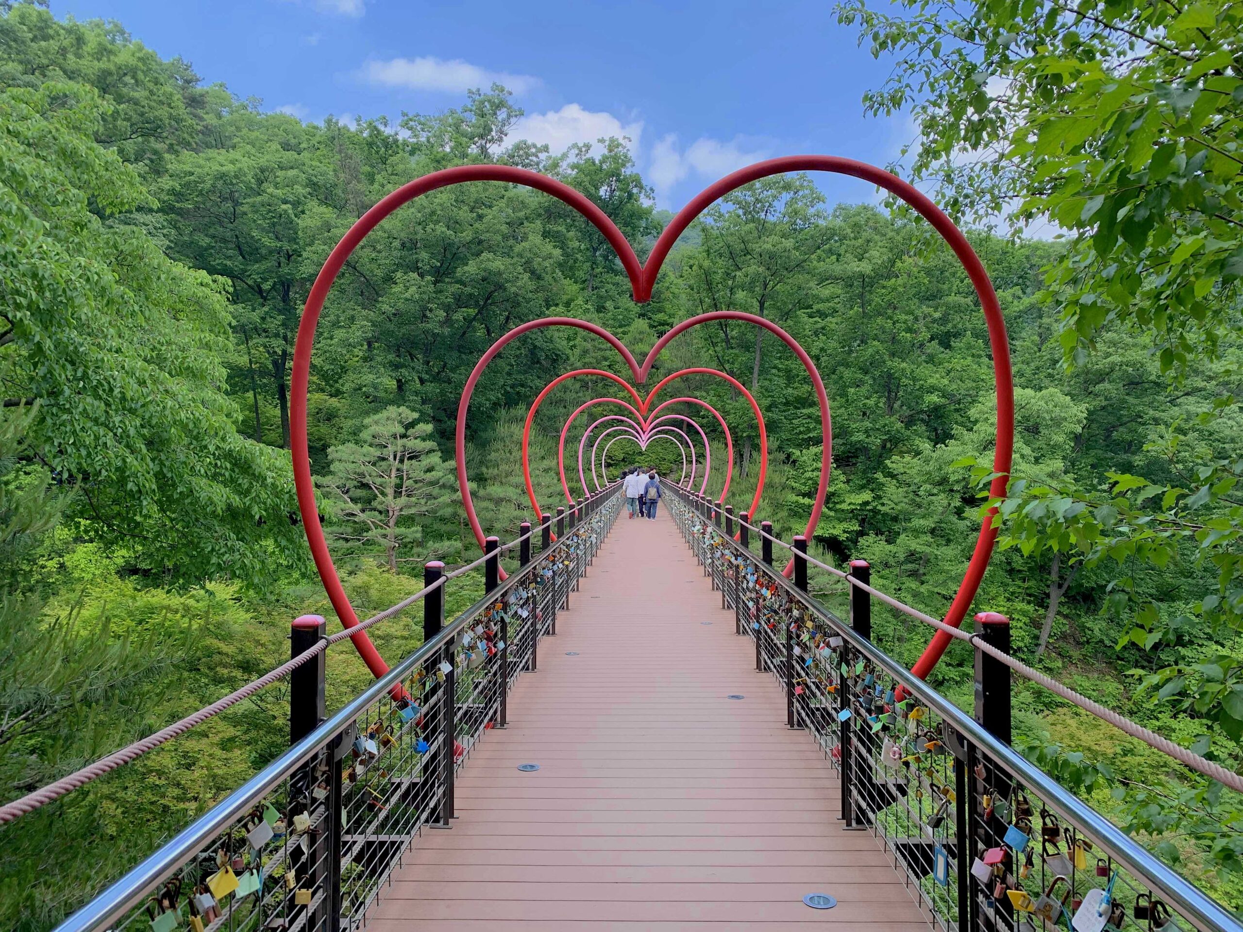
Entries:
[[[680, 495], [680, 490], [672, 491], [674, 496], [682, 502], [682, 506], [691, 512], [692, 517], [701, 517], [690, 508], [687, 500]], [[737, 553], [746, 554], [750, 560], [759, 562], [750, 548], [743, 548], [741, 543], [723, 533], [711, 522], [705, 521], [704, 526], [717, 534]], [[1144, 877], [1149, 886], [1160, 891], [1171, 906], [1177, 906], [1185, 918], [1196, 925], [1196, 928], [1202, 932], [1243, 932], [1243, 925], [1226, 907], [1152, 856], [1144, 846], [1136, 844], [1130, 835], [1066, 790], [1062, 784], [1044, 773], [1044, 770], [984, 731], [975, 718], [966, 715], [927, 682], [914, 676], [910, 670], [892, 660], [870, 640], [855, 634], [850, 625], [786, 579], [779, 572], [774, 570], [766, 575], [771, 575], [788, 596], [796, 599], [804, 608], [810, 609], [828, 621], [835, 633], [854, 650], [866, 656], [897, 682], [909, 686], [911, 692], [919, 696], [924, 705], [937, 712], [960, 736], [987, 753], [996, 763], [1009, 770], [1011, 775], [1017, 777], [1030, 788], [1049, 808], [1057, 810], [1060, 818], [1074, 825], [1076, 830], [1093, 838], [1095, 844], [1099, 844], [1114, 860], [1122, 864], [1132, 874]]]

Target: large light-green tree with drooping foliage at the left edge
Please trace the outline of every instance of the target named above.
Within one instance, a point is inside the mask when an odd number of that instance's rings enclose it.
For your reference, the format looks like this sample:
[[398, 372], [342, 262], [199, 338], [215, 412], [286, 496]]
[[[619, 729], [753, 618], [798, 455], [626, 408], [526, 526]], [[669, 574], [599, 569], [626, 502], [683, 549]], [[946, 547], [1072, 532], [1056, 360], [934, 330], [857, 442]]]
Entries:
[[0, 92], [4, 404], [40, 401], [30, 455], [86, 533], [173, 577], [262, 578], [296, 541], [287, 466], [237, 435], [219, 282], [132, 222], [149, 200], [101, 112], [82, 86]]

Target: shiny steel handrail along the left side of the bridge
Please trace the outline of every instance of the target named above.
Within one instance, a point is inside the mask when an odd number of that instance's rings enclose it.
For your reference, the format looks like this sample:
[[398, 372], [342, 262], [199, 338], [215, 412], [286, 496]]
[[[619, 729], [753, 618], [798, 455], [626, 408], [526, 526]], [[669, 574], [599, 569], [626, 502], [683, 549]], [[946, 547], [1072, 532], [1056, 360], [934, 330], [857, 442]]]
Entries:
[[[613, 487], [608, 496], [609, 498], [617, 495], [618, 487]], [[118, 880], [109, 884], [101, 893], [57, 926], [56, 932], [91, 932], [92, 930], [107, 926], [107, 923], [140, 905], [155, 887], [175, 874], [188, 860], [194, 857], [205, 844], [250, 811], [255, 805], [255, 800], [261, 799], [293, 770], [321, 753], [363, 711], [399, 686], [406, 674], [420, 664], [439, 656], [445, 646], [451, 644], [461, 630], [475, 620], [476, 615], [498, 599], [502, 599], [520, 580], [530, 575], [531, 572], [537, 570], [546, 558], [553, 557], [558, 549], [566, 547], [573, 539], [574, 537], [567, 531], [562, 539], [554, 542], [537, 559], [532, 560], [528, 567], [523, 568], [527, 572], [511, 574], [507, 580], [501, 583], [498, 589], [486, 594], [462, 611], [451, 624], [441, 629], [435, 637], [420, 645], [414, 654], [375, 680], [367, 690], [355, 696], [338, 712], [302, 738], [302, 741], [291, 744], [280, 757], [264, 767], [241, 787], [225, 797], [220, 803], [216, 803], [216, 805], [186, 828], [181, 829], [168, 844], [148, 855]]]

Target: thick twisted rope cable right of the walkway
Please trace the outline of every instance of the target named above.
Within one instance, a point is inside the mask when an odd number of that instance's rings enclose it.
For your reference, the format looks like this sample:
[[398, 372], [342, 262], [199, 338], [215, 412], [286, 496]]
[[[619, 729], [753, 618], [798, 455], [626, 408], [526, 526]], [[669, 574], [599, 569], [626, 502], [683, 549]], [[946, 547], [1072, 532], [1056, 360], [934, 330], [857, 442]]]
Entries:
[[[786, 543], [784, 541], [778, 539], [777, 537], [773, 537], [772, 534], [764, 533], [763, 531], [761, 531], [759, 528], [755, 527], [753, 524], [747, 524], [741, 518], [738, 518], [737, 521], [738, 521], [740, 524], [746, 524], [747, 528], [755, 531], [756, 533], [761, 534], [762, 537], [767, 537], [769, 541], [773, 541], [774, 543], [781, 544], [786, 549], [789, 549], [789, 551], [794, 549], [793, 547], [791, 547], [791, 544]], [[713, 527], [713, 531], [716, 528]], [[827, 563], [822, 563], [820, 560], [815, 559], [815, 557], [810, 557], [810, 555], [807, 555], [807, 554], [799, 554], [799, 555], [802, 555], [808, 563], [810, 563], [810, 564], [813, 564], [815, 567], [819, 567], [823, 570], [827, 570], [828, 573], [838, 577], [839, 579], [845, 579], [850, 585], [856, 587], [858, 589], [861, 589], [863, 592], [868, 593], [869, 595], [871, 595], [871, 596], [879, 599], [880, 601], [885, 603], [890, 608], [892, 608], [892, 609], [895, 609], [895, 610], [897, 610], [897, 611], [900, 611], [900, 613], [902, 613], [905, 615], [909, 615], [910, 618], [914, 618], [917, 621], [922, 621], [926, 625], [931, 625], [932, 628], [937, 629], [938, 631], [945, 631], [951, 637], [955, 637], [955, 639], [957, 639], [960, 641], [966, 641], [967, 644], [972, 645], [973, 647], [976, 647], [978, 650], [982, 650], [988, 656], [994, 657], [996, 660], [999, 660], [1002, 664], [1004, 664], [1006, 666], [1008, 666], [1011, 670], [1013, 670], [1014, 672], [1017, 672], [1019, 676], [1023, 676], [1023, 677], [1030, 680], [1032, 682], [1034, 682], [1034, 683], [1037, 683], [1039, 686], [1043, 686], [1044, 688], [1049, 690], [1049, 692], [1053, 692], [1053, 693], [1060, 696], [1062, 698], [1066, 700], [1066, 702], [1070, 702], [1071, 705], [1078, 706], [1079, 708], [1084, 710], [1085, 712], [1089, 712], [1090, 715], [1095, 716], [1096, 718], [1100, 718], [1103, 722], [1108, 722], [1109, 724], [1112, 724], [1119, 731], [1125, 732], [1126, 734], [1130, 734], [1132, 738], [1142, 741], [1149, 747], [1151, 747], [1151, 748], [1154, 748], [1156, 751], [1160, 751], [1161, 753], [1163, 753], [1163, 754], [1166, 754], [1168, 757], [1172, 757], [1175, 761], [1177, 761], [1178, 763], [1183, 764], [1185, 767], [1187, 767], [1187, 768], [1190, 768], [1192, 770], [1196, 770], [1197, 773], [1201, 773], [1204, 777], [1208, 777], [1209, 779], [1217, 780], [1218, 783], [1222, 783], [1222, 784], [1229, 787], [1231, 789], [1233, 789], [1233, 790], [1236, 790], [1238, 793], [1243, 793], [1243, 777], [1241, 777], [1239, 774], [1234, 773], [1233, 770], [1228, 770], [1224, 767], [1222, 767], [1221, 764], [1214, 763], [1213, 761], [1208, 761], [1207, 758], [1203, 758], [1199, 754], [1197, 754], [1197, 753], [1195, 753], [1195, 752], [1192, 752], [1192, 751], [1182, 747], [1182, 744], [1177, 744], [1177, 743], [1170, 741], [1168, 738], [1162, 737], [1161, 734], [1157, 734], [1156, 732], [1154, 732], [1154, 731], [1151, 731], [1149, 728], [1145, 728], [1142, 724], [1132, 722], [1126, 716], [1124, 716], [1124, 715], [1121, 715], [1119, 712], [1115, 712], [1111, 708], [1106, 708], [1105, 706], [1100, 705], [1099, 702], [1094, 702], [1093, 700], [1088, 698], [1086, 696], [1084, 696], [1084, 695], [1081, 695], [1079, 692], [1075, 692], [1074, 690], [1071, 690], [1065, 683], [1062, 683], [1062, 682], [1054, 680], [1052, 676], [1042, 674], [1039, 670], [1034, 670], [1033, 667], [1030, 667], [1027, 664], [1024, 664], [1022, 660], [1012, 657], [1006, 651], [999, 650], [999, 649], [994, 647], [993, 645], [983, 641], [978, 635], [971, 634], [970, 631], [963, 631], [961, 628], [955, 628], [953, 625], [947, 625], [945, 621], [941, 621], [940, 619], [932, 618], [931, 615], [926, 615], [922, 611], [920, 611], [919, 609], [914, 609], [910, 605], [906, 605], [905, 603], [899, 601], [892, 595], [888, 595], [888, 594], [880, 592], [879, 589], [874, 589], [873, 587], [868, 585], [866, 583], [859, 582], [858, 579], [855, 579], [854, 577], [851, 577], [849, 573], [843, 573], [837, 567], [830, 567]]]

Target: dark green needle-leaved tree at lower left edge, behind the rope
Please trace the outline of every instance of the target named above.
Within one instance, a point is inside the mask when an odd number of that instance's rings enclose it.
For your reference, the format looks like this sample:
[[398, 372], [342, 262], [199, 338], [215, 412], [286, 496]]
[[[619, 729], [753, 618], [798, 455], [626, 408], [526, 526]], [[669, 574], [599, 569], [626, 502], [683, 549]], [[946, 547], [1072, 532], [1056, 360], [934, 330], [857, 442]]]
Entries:
[[[35, 418], [37, 409], [26, 408], [0, 418], [0, 802], [112, 751], [118, 723], [140, 720], [190, 646], [184, 630], [131, 636], [114, 633], [107, 619], [85, 624], [73, 610], [45, 615], [30, 580], [70, 501], [31, 462], [24, 437]], [[80, 794], [5, 829], [5, 928], [58, 918], [67, 895], [81, 895], [102, 864], [116, 866], [114, 855], [91, 843], [97, 828], [98, 800]], [[53, 864], [48, 851], [58, 852]]]

